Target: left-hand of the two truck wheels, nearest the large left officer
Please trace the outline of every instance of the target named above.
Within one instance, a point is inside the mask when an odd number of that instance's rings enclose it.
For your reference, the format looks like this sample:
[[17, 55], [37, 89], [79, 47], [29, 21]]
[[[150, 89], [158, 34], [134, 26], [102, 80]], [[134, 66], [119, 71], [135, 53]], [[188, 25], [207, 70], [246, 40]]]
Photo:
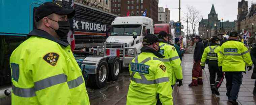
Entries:
[[97, 67], [96, 74], [88, 74], [88, 86], [100, 89], [106, 85], [108, 78], [108, 65], [106, 60], [101, 60]]

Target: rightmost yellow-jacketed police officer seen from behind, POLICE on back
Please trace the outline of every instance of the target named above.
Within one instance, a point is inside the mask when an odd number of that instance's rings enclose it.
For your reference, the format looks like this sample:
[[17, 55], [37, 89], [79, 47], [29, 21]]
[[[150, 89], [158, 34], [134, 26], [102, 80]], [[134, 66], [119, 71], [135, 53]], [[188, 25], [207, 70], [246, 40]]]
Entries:
[[224, 42], [218, 54], [219, 69], [225, 72], [228, 101], [233, 105], [236, 102], [240, 85], [242, 84], [243, 72], [246, 65], [252, 69], [251, 56], [247, 47], [238, 41], [237, 32], [231, 32], [229, 40]]

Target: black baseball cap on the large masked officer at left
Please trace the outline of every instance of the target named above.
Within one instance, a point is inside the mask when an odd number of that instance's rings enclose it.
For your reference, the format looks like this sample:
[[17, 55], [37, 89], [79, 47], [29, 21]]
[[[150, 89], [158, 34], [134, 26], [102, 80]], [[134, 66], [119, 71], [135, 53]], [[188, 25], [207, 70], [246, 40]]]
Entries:
[[36, 9], [35, 20], [38, 22], [39, 20], [43, 19], [43, 17], [52, 13], [67, 15], [68, 18], [71, 18], [74, 16], [75, 10], [63, 8], [60, 4], [54, 2], [45, 2]]

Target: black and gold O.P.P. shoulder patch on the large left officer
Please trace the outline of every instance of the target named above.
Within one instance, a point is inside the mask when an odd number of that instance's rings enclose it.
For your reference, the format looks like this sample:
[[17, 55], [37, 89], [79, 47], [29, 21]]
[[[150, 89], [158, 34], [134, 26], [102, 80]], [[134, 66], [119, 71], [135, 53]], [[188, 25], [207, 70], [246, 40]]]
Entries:
[[50, 65], [55, 66], [57, 64], [59, 57], [60, 56], [57, 53], [50, 52], [43, 57], [43, 60], [49, 63]]

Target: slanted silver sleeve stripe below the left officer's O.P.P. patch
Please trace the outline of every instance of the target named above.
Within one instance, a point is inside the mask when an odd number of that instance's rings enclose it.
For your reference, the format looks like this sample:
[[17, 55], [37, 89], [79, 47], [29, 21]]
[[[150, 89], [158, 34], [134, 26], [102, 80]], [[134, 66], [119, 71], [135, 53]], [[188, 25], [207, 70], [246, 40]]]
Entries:
[[52, 77], [48, 77], [43, 80], [34, 82], [35, 91], [39, 91], [56, 84], [64, 83], [66, 81], [67, 81], [67, 76], [65, 74], [59, 74]]

